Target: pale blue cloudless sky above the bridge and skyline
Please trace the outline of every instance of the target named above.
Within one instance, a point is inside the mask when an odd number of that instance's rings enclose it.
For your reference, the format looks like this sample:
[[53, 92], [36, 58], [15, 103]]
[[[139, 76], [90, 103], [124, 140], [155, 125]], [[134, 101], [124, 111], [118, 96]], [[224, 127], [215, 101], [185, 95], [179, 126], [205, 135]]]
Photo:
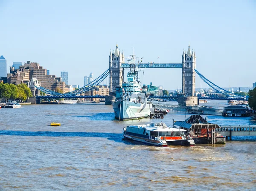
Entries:
[[[56, 76], [68, 71], [69, 84], [80, 87], [90, 72], [108, 69], [116, 43], [143, 63], [181, 63], [190, 44], [197, 70], [216, 85], [256, 81], [254, 0], [0, 0], [0, 26], [8, 66], [29, 60]], [[140, 73], [141, 83], [167, 90], [180, 88], [181, 77], [181, 69]], [[196, 88], [205, 86], [197, 76]]]

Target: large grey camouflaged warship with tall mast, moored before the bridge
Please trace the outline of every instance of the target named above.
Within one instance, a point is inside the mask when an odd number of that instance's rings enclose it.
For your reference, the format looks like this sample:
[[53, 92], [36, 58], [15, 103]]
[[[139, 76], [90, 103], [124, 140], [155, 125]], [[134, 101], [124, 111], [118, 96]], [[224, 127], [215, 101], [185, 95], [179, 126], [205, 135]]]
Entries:
[[147, 86], [141, 88], [138, 67], [135, 67], [135, 55], [131, 55], [130, 71], [127, 74], [127, 83], [116, 86], [116, 100], [112, 104], [117, 120], [133, 120], [150, 117], [153, 111], [152, 103], [147, 100]]

